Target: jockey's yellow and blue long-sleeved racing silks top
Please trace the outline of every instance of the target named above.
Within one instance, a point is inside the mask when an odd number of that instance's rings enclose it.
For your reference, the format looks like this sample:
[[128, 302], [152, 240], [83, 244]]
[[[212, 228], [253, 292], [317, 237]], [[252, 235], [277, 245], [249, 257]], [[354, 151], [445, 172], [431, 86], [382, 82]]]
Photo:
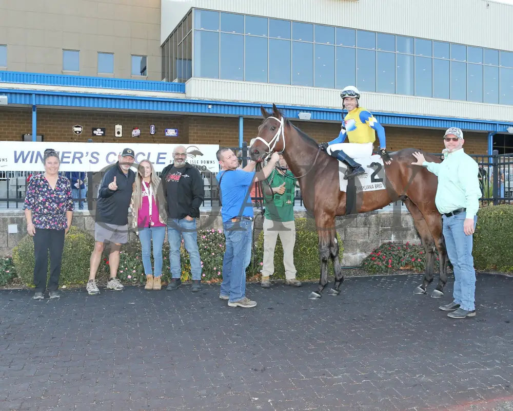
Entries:
[[363, 107], [349, 111], [344, 119], [344, 127], [341, 128], [339, 136], [328, 144], [343, 143], [346, 136], [350, 143], [373, 143], [377, 134], [380, 148], [386, 147], [385, 129], [376, 117]]

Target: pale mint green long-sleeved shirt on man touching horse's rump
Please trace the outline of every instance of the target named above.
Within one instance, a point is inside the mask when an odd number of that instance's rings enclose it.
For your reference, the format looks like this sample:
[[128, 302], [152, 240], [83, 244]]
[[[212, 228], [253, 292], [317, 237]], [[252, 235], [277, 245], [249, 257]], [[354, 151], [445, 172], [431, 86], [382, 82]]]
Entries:
[[466, 209], [466, 218], [474, 218], [479, 210], [481, 189], [479, 188], [478, 163], [463, 148], [445, 155], [441, 163], [422, 163], [438, 176], [435, 204], [440, 213]]

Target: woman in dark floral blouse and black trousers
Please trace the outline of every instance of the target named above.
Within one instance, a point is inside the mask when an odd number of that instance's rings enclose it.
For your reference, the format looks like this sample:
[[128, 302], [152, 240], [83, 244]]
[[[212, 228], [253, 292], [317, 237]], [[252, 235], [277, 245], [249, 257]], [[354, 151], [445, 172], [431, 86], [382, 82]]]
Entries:
[[64, 235], [71, 226], [73, 199], [71, 184], [58, 175], [58, 153], [47, 149], [43, 157], [45, 173], [30, 179], [25, 196], [27, 233], [34, 237], [34, 300], [42, 300], [48, 274], [48, 250], [50, 250], [50, 298], [60, 297], [57, 288], [61, 276]]

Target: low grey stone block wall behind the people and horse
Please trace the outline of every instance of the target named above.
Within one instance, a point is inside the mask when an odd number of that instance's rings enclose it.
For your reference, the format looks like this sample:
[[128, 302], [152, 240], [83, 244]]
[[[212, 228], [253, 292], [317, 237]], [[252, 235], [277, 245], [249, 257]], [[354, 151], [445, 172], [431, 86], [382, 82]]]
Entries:
[[[308, 217], [305, 211], [295, 211], [295, 216]], [[255, 238], [262, 229], [263, 218], [255, 221]], [[73, 225], [94, 235], [94, 214], [89, 211], [76, 211]], [[420, 243], [413, 226], [413, 219], [406, 209], [358, 214], [356, 216], [337, 217], [337, 232], [344, 241], [343, 266], [358, 266], [362, 259], [383, 242]], [[198, 228], [223, 229], [219, 212], [202, 212]], [[11, 231], [9, 233], [9, 231]], [[13, 232], [17, 231], [17, 232]], [[0, 253], [10, 254], [18, 241], [26, 235], [25, 216], [22, 210], [0, 211]], [[133, 236], [134, 234], [130, 234]]]

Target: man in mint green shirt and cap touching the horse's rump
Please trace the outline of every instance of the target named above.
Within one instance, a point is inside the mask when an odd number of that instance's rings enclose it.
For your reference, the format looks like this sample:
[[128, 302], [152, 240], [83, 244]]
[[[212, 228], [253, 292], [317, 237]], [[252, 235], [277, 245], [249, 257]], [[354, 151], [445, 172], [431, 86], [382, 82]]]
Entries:
[[476, 271], [472, 258], [472, 234], [476, 228], [479, 210], [478, 164], [463, 151], [463, 132], [458, 127], [447, 129], [444, 135], [444, 160], [433, 163], [422, 153], [413, 153], [414, 165], [422, 165], [438, 176], [435, 204], [442, 214], [443, 234], [447, 255], [454, 269], [454, 300], [440, 306], [451, 311], [451, 318], [476, 315]]

